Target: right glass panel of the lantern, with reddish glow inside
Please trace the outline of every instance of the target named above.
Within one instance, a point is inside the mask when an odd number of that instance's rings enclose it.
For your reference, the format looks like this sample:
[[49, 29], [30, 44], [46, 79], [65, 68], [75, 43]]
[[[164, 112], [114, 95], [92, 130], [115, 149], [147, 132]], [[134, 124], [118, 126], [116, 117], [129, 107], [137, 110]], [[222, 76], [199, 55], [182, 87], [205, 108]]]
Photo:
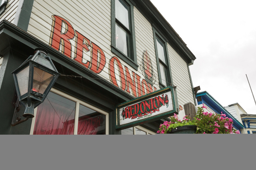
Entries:
[[37, 67], [33, 68], [32, 91], [43, 94], [53, 79], [53, 75]]

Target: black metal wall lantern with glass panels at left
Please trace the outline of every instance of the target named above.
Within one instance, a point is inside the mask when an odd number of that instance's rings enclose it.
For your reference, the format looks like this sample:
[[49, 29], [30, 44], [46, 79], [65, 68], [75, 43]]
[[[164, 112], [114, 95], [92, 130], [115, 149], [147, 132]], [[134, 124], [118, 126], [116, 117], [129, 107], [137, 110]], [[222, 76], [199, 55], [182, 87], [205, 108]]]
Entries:
[[[44, 101], [60, 74], [43, 48], [36, 48], [34, 55], [29, 56], [12, 74], [18, 100], [26, 108], [23, 116], [26, 120], [33, 118], [34, 108]], [[16, 124], [19, 123], [12, 123], [12, 126]]]

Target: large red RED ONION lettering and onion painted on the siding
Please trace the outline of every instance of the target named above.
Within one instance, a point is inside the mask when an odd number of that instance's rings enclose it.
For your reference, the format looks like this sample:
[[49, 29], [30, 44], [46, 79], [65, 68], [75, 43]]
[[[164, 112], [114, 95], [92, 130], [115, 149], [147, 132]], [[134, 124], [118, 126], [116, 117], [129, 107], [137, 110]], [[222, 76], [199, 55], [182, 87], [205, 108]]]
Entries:
[[[57, 15], [52, 15], [52, 18], [53, 22], [49, 45], [66, 57], [72, 60], [74, 59], [84, 68], [91, 70], [95, 74], [101, 73], [106, 65], [104, 51], [94, 42], [91, 42], [80, 32], [75, 30], [71, 23], [65, 18]], [[72, 43], [74, 43], [74, 41], [75, 49], [72, 50]], [[73, 57], [72, 51], [74, 51]], [[123, 66], [120, 60], [116, 56], [113, 56], [109, 60], [109, 68], [107, 71], [110, 82], [122, 91], [132, 94], [134, 97], [140, 97], [156, 91], [157, 89], [154, 87], [155, 77], [152, 71], [152, 64], [146, 51], [143, 52], [142, 61], [143, 75], [146, 79], [141, 79], [138, 74], [129, 71], [127, 66]]]

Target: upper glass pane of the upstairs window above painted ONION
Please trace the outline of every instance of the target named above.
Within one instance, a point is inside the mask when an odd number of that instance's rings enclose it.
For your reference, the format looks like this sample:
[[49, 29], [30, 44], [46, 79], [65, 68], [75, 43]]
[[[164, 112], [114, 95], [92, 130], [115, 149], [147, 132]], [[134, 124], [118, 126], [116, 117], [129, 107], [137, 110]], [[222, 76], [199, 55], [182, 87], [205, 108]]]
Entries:
[[128, 6], [122, 0], [116, 0], [116, 18], [129, 29]]

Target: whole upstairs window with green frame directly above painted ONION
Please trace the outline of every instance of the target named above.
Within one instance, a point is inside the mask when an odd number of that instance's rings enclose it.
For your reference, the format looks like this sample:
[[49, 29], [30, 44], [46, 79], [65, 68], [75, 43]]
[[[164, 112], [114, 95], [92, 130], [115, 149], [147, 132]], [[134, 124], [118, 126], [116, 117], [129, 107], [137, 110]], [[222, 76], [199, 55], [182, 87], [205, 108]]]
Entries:
[[138, 69], [133, 5], [129, 0], [111, 0], [111, 50]]

